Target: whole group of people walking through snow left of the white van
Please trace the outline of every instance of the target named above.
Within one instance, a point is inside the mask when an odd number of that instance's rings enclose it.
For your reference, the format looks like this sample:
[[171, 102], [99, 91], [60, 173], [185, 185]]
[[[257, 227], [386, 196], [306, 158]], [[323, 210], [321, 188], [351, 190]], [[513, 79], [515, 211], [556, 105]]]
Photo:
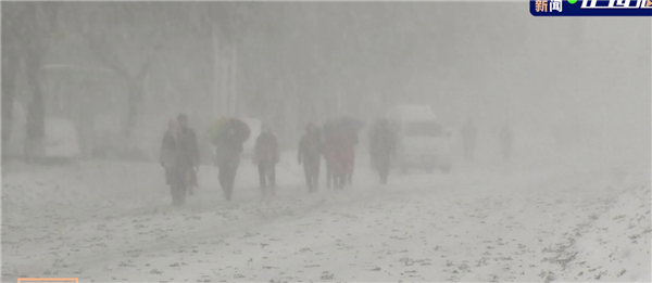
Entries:
[[[341, 190], [353, 182], [355, 146], [362, 123], [352, 118], [328, 121], [322, 127], [309, 123], [305, 133], [299, 141], [297, 162], [303, 166], [309, 192], [318, 190], [322, 158], [326, 164], [326, 185]], [[237, 118], [223, 117], [208, 131], [208, 138], [215, 151], [220, 185], [226, 200], [231, 200], [236, 175], [244, 142], [250, 138], [249, 126]], [[387, 183], [389, 163], [396, 147], [396, 138], [387, 120], [378, 120], [369, 131], [371, 156], [374, 168], [379, 172], [381, 183]], [[161, 165], [165, 168], [166, 183], [171, 185], [173, 203], [180, 204], [175, 185], [189, 194], [198, 186], [199, 146], [197, 134], [188, 127], [188, 117], [179, 114], [170, 120], [161, 146]], [[252, 162], [258, 166], [262, 195], [276, 193], [276, 165], [280, 159], [278, 140], [272, 129], [262, 124], [261, 134], [255, 139]], [[175, 194], [177, 196], [175, 197]], [[179, 200], [180, 198], [180, 200]]]

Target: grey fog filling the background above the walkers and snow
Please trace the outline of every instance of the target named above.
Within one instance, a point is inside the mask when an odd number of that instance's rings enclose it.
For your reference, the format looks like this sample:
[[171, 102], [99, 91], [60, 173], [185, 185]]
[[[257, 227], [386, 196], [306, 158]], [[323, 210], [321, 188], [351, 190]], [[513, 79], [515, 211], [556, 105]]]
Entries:
[[[16, 81], [3, 83], [3, 93], [15, 93], [22, 108], [14, 116], [26, 116], [34, 94], [25, 61], [7, 57], [20, 57], [36, 37], [45, 117], [90, 127], [83, 130], [87, 156], [126, 146], [155, 158], [166, 120], [181, 112], [200, 132], [222, 115], [259, 118], [291, 149], [308, 121], [369, 121], [396, 104], [429, 104], [454, 131], [473, 117], [486, 137], [509, 120], [525, 147], [565, 125], [578, 127], [570, 132], [585, 137], [581, 147], [636, 143], [649, 155], [645, 18], [539, 18], [527, 3], [2, 8], [4, 81]], [[25, 28], [29, 13], [37, 21]], [[20, 143], [25, 130], [13, 120]]]

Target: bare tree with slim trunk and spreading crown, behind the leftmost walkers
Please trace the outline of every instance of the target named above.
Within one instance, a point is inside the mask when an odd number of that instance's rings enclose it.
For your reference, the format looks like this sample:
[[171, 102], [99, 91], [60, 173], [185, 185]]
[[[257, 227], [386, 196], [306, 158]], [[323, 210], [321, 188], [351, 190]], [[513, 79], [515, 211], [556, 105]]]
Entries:
[[164, 10], [150, 3], [92, 3], [80, 11], [79, 25], [95, 57], [122, 77], [127, 86], [127, 117], [123, 134], [130, 138], [143, 103], [145, 79], [166, 42]]

